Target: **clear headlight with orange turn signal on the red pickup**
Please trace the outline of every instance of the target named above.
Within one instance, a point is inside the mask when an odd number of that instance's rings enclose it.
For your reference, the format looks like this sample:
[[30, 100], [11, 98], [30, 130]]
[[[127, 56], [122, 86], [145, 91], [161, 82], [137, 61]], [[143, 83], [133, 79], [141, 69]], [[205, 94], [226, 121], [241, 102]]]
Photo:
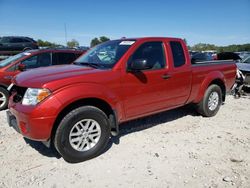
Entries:
[[24, 94], [22, 104], [36, 105], [46, 97], [48, 97], [50, 94], [51, 92], [48, 89], [28, 88]]

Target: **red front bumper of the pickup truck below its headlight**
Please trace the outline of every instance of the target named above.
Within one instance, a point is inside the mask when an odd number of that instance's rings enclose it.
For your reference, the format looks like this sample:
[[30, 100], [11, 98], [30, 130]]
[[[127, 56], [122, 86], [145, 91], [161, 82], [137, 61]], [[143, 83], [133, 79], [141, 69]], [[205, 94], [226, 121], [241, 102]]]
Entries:
[[46, 99], [37, 106], [14, 103], [10, 97], [9, 111], [7, 111], [8, 124], [28, 139], [48, 141], [60, 105], [55, 97]]

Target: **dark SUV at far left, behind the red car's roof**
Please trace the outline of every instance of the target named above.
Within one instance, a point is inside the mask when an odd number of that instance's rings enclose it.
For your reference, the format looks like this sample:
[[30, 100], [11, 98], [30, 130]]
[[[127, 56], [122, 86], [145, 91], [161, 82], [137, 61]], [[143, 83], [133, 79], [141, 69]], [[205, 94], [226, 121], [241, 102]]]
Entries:
[[29, 37], [0, 37], [0, 55], [13, 55], [22, 51], [38, 49], [37, 42]]

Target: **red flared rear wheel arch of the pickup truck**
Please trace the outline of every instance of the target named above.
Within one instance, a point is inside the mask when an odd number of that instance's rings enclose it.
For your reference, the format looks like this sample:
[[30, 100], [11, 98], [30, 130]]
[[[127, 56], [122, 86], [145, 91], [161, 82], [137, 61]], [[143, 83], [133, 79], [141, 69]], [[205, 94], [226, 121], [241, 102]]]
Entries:
[[197, 96], [195, 97], [194, 103], [198, 103], [203, 99], [203, 96], [208, 88], [208, 86], [215, 80], [220, 80], [225, 85], [226, 80], [222, 72], [220, 71], [213, 71], [207, 74], [207, 76], [204, 78], [202, 83], [200, 84], [200, 87], [198, 89]]

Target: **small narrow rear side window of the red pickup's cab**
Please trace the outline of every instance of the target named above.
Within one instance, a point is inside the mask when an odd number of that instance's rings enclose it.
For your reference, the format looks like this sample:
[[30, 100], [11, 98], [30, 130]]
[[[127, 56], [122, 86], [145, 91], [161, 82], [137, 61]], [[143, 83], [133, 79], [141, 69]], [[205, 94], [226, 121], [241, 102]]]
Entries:
[[174, 67], [183, 67], [186, 64], [186, 58], [181, 42], [170, 41], [170, 48], [172, 51]]

